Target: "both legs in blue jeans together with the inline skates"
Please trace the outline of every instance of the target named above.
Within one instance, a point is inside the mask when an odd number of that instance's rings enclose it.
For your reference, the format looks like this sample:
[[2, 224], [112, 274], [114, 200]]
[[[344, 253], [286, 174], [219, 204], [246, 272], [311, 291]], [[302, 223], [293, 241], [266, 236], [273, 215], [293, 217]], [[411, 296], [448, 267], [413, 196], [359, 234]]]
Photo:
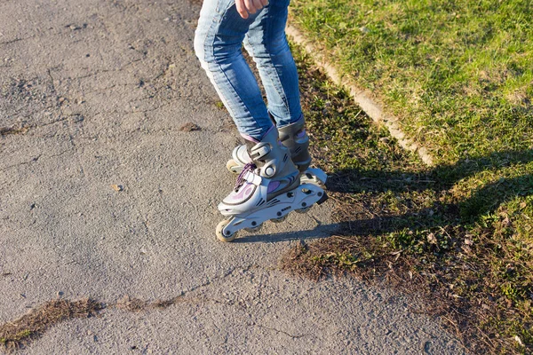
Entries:
[[[230, 161], [242, 169], [235, 188], [219, 203], [227, 217], [217, 226], [221, 241], [233, 241], [237, 231], [267, 220], [279, 222], [290, 211], [306, 211], [326, 196], [320, 186], [302, 183], [311, 158], [298, 72], [285, 37], [289, 1], [269, 0], [247, 19], [235, 0], [204, 0], [200, 12], [196, 55], [247, 140]], [[243, 58], [243, 43], [259, 68], [268, 106]]]

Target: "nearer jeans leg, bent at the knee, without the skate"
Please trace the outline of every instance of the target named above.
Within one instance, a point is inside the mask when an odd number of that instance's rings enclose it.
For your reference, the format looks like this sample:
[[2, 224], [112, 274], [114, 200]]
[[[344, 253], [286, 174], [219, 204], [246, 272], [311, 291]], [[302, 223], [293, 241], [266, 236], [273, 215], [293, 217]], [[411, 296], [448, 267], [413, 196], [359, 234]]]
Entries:
[[205, 0], [195, 52], [219, 97], [246, 138], [259, 141], [273, 127], [258, 83], [243, 58], [243, 38], [261, 12], [243, 19], [235, 1]]

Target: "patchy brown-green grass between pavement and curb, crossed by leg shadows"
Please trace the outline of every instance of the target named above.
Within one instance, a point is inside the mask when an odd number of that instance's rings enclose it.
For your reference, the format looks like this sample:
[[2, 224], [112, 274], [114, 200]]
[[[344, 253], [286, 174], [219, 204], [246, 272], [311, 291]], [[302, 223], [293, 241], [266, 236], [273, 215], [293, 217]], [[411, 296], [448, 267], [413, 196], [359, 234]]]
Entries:
[[293, 53], [314, 163], [330, 175], [342, 230], [293, 248], [282, 267], [389, 280], [424, 297], [473, 352], [533, 351], [533, 149], [428, 168]]

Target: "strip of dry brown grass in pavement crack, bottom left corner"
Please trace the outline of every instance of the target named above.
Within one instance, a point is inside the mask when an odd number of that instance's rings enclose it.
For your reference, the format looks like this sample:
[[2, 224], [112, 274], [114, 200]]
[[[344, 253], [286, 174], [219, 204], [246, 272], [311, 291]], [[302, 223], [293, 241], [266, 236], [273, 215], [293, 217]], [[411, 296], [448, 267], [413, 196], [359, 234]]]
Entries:
[[62, 321], [91, 317], [103, 308], [90, 298], [76, 302], [64, 299], [47, 302], [19, 319], [0, 325], [0, 345], [8, 351], [20, 349]]

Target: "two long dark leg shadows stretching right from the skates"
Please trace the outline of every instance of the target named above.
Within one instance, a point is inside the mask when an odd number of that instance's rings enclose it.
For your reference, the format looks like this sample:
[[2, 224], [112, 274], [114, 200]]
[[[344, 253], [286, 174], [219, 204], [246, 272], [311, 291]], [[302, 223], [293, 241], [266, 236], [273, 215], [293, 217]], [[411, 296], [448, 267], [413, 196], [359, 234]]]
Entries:
[[[503, 171], [505, 168], [520, 171], [528, 169], [526, 165], [529, 166], [531, 162], [533, 149], [527, 149], [471, 157], [456, 164], [440, 165], [412, 173], [390, 170], [337, 170], [330, 172], [328, 191], [341, 194], [363, 193], [363, 198], [368, 201], [358, 203], [366, 204], [365, 208], [371, 209], [376, 206], [376, 201], [391, 193], [393, 196], [412, 192], [443, 196], [460, 181], [479, 176], [483, 171]], [[502, 177], [496, 181], [487, 181], [484, 185], [476, 186], [467, 198], [453, 201], [440, 201], [437, 198], [429, 206], [420, 206], [419, 201], [412, 201], [412, 206], [405, 213], [391, 216], [382, 213], [383, 211], [372, 210], [374, 217], [371, 218], [362, 216], [355, 206], [345, 206], [346, 214], [338, 223], [317, 225], [306, 231], [249, 234], [235, 242], [307, 241], [327, 238], [336, 233], [371, 236], [395, 233], [404, 228], [417, 232], [447, 225], [473, 223], [488, 213], [494, 213], [502, 204], [517, 196], [533, 195], [532, 174], [506, 174], [507, 176], [502, 173]]]

